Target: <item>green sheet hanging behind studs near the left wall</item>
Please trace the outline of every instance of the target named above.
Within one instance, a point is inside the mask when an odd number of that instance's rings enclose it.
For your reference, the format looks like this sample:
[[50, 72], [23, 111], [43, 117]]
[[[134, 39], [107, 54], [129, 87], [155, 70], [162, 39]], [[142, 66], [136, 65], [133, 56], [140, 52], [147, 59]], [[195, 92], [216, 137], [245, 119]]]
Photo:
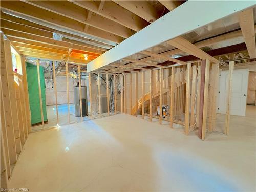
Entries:
[[[31, 124], [41, 123], [41, 109], [38, 90], [38, 77], [37, 66], [26, 62], [26, 72], [29, 90], [29, 106], [31, 111]], [[41, 83], [41, 96], [42, 96], [42, 111], [44, 113], [44, 121], [47, 121], [46, 113], [46, 88], [44, 68], [39, 66], [40, 83]]]

